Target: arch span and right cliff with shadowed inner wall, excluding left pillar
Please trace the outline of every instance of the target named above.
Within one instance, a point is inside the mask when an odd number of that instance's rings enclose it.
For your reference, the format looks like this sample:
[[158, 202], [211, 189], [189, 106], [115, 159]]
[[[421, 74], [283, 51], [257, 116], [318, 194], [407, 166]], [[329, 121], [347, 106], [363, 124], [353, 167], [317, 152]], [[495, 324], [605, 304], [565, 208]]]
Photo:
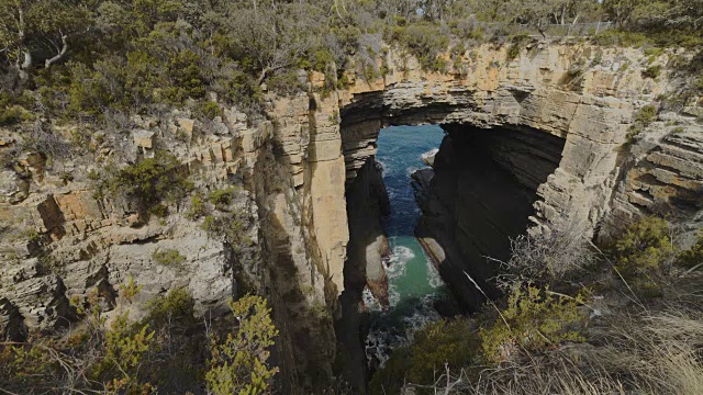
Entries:
[[698, 226], [700, 103], [627, 137], [643, 106], [682, 83], [669, 72], [644, 78], [641, 70], [652, 64], [666, 70], [685, 53], [649, 59], [639, 49], [540, 43], [513, 60], [491, 46], [464, 55], [453, 74], [432, 75], [391, 52], [391, 72], [356, 81], [341, 114], [347, 183], [376, 154], [381, 127], [442, 124], [449, 132], [435, 179], [421, 177], [429, 193], [419, 236], [467, 308], [482, 295], [464, 272], [490, 293], [484, 279], [496, 263], [486, 257], [507, 258], [509, 237], [565, 224], [587, 236], [607, 234], [620, 222], [613, 218], [659, 207]]

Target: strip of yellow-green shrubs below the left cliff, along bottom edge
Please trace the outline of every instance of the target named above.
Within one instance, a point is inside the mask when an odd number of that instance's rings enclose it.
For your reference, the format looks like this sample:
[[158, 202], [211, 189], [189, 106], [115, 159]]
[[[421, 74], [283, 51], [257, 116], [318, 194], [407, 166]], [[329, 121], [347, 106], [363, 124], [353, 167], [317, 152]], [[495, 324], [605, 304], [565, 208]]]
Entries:
[[[133, 289], [134, 297], [141, 290], [130, 282], [125, 289]], [[60, 337], [36, 334], [26, 342], [0, 345], [0, 388], [10, 394], [270, 392], [277, 370], [267, 363], [278, 331], [261, 297], [230, 302], [232, 313], [217, 323], [194, 318], [186, 290], [155, 297], [141, 319], [129, 309], [108, 319], [91, 302], [72, 302], [83, 323]]]

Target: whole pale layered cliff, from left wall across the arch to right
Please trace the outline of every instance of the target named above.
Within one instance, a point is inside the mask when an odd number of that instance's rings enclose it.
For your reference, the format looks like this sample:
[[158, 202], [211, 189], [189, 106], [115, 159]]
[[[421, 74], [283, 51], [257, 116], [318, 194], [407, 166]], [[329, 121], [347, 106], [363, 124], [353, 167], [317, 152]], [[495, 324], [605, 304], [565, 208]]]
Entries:
[[[371, 273], [371, 282], [383, 275], [371, 267], [384, 253], [382, 248], [349, 242], [354, 227], [348, 215], [359, 207], [354, 194], [345, 193], [359, 174], [368, 182], [375, 179], [366, 172], [376, 139], [382, 126], [392, 124], [447, 125], [449, 138], [462, 142], [453, 144], [454, 150], [466, 146], [482, 153], [511, 180], [511, 195], [522, 202], [513, 213], [520, 226], [495, 225], [501, 228], [496, 238], [522, 227], [544, 232], [565, 222], [581, 223], [588, 235], [595, 235], [616, 215], [639, 215], [660, 206], [690, 226], [691, 218], [700, 218], [700, 102], [692, 101], [683, 114], [663, 114], [643, 137], [627, 142], [637, 111], [679, 83], [666, 68], [657, 80], [644, 78], [640, 71], [650, 63], [640, 49], [540, 43], [507, 60], [505, 47], [483, 45], [449, 61], [453, 66], [443, 75], [421, 71], [415, 60], [399, 52], [387, 56], [379, 60], [389, 69], [383, 78], [350, 76], [348, 89], [322, 94], [314, 93], [323, 86], [323, 77], [315, 74], [310, 93], [271, 97], [268, 121], [256, 126], [236, 109], [211, 123], [175, 111], [161, 119], [136, 117], [137, 126], [116, 137], [94, 131], [88, 142], [97, 153], [94, 161], [47, 161], [36, 151], [20, 153], [20, 159], [2, 170], [0, 184], [5, 229], [0, 246], [0, 332], [21, 337], [26, 328], [65, 326], [75, 316], [71, 304], [92, 292], [107, 314], [119, 312], [124, 308], [120, 285], [130, 276], [144, 286], [144, 301], [187, 286], [199, 314], [224, 313], [226, 300], [246, 283], [274, 306], [281, 330], [275, 352], [281, 388], [294, 393], [325, 382], [332, 361], [346, 358], [337, 350], [333, 318], [344, 317], [345, 308], [364, 309], [357, 296], [339, 304], [348, 286], [345, 261], [350, 264], [347, 256], [353, 257], [347, 248], [372, 251], [361, 269]], [[674, 56], [685, 53], [668, 50], [654, 64], [666, 66]], [[58, 132], [68, 138], [78, 128]], [[510, 138], [498, 137], [503, 132]], [[26, 146], [22, 134], [0, 133], [0, 150]], [[113, 153], [116, 146], [121, 153]], [[187, 204], [169, 207], [163, 219], [142, 223], [129, 206], [93, 196], [87, 174], [96, 161], [159, 155], [158, 149], [175, 154], [201, 191], [239, 187], [233, 204], [246, 213], [250, 242], [243, 246], [237, 267], [226, 244], [183, 217]], [[451, 159], [447, 153], [438, 158]], [[456, 165], [449, 159], [445, 165]], [[443, 166], [437, 163], [437, 173]], [[480, 166], [467, 162], [459, 168]], [[72, 181], [62, 177], [66, 172]], [[438, 194], [442, 205], [450, 208], [448, 215], [461, 216], [458, 211], [486, 198], [469, 195], [475, 177], [465, 172], [446, 182], [464, 191], [454, 205]], [[439, 178], [433, 182], [442, 183]], [[507, 199], [500, 189], [486, 191], [496, 202]], [[355, 206], [347, 211], [347, 204]], [[501, 214], [495, 208], [486, 213], [490, 212]], [[451, 258], [455, 262], [464, 262], [468, 252], [460, 249], [468, 247], [461, 246], [482, 229], [471, 215], [467, 218], [471, 226], [454, 218], [454, 240], [460, 248], [445, 253], [458, 257]], [[501, 224], [493, 216], [488, 222]], [[464, 232], [459, 237], [457, 229]], [[382, 235], [373, 236], [367, 247], [382, 245]], [[425, 242], [447, 246], [436, 235]], [[154, 262], [153, 251], [167, 248], [178, 249], [185, 263], [167, 268]], [[456, 268], [467, 267], [461, 264]], [[456, 281], [456, 290], [472, 287], [465, 276], [447, 280]], [[356, 332], [362, 337], [362, 330]]]

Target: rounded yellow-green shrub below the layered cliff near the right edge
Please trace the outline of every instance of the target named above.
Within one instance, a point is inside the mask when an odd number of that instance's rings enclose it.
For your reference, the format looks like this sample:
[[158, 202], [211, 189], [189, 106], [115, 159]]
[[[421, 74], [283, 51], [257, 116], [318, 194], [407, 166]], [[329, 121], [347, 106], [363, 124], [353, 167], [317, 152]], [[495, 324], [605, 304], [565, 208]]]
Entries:
[[615, 268], [625, 279], [660, 272], [676, 252], [669, 223], [652, 216], [633, 223], [615, 242], [614, 252]]

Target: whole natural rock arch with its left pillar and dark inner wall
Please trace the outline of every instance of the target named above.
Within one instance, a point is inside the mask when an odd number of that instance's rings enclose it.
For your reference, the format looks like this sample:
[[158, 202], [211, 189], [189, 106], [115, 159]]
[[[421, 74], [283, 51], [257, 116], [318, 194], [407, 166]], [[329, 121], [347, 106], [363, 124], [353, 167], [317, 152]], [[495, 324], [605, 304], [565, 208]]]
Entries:
[[[650, 64], [640, 49], [543, 43], [507, 60], [505, 47], [484, 45], [444, 75], [393, 52], [386, 64], [391, 71], [382, 79], [311, 95], [303, 127], [292, 122], [277, 132], [295, 184], [310, 198], [323, 272], [345, 291], [338, 328], [350, 335], [337, 334], [356, 362], [365, 363], [353, 345], [360, 291], [368, 285], [383, 298], [379, 216], [387, 207], [372, 160], [384, 126], [440, 124], [448, 132], [425, 185], [417, 236], [467, 308], [482, 296], [464, 272], [490, 293], [484, 280], [495, 264], [484, 256], [507, 258], [509, 237], [528, 228], [576, 225], [585, 237], [604, 236], [615, 218], [660, 207], [699, 226], [690, 219], [703, 206], [701, 108], [662, 114], [644, 137], [627, 138], [639, 109], [677, 86], [669, 74], [643, 77]], [[321, 87], [322, 76], [314, 77]], [[293, 102], [276, 112], [291, 113]]]

